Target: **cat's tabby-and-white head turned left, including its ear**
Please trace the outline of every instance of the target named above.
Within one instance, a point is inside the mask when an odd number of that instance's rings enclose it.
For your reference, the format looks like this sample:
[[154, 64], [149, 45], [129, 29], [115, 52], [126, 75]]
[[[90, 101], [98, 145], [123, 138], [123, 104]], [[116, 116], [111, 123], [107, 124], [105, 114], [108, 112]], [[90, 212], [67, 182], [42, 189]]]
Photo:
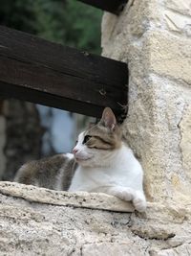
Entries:
[[81, 166], [102, 166], [121, 147], [121, 130], [112, 109], [106, 107], [97, 125], [81, 132], [73, 153]]

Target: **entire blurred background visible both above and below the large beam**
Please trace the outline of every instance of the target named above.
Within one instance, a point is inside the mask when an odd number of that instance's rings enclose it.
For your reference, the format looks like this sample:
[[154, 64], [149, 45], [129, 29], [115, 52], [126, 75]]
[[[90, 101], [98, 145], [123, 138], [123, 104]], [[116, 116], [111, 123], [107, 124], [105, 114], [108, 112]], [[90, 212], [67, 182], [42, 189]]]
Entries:
[[[99, 55], [102, 12], [75, 0], [0, 0], [0, 25]], [[0, 180], [25, 162], [70, 152], [94, 119], [0, 96]]]

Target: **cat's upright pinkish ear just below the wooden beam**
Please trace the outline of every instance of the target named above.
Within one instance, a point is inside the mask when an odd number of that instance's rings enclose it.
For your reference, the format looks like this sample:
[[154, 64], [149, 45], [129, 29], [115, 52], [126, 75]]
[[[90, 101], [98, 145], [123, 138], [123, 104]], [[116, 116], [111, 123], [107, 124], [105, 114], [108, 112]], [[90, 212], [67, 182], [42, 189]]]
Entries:
[[106, 128], [110, 128], [112, 131], [115, 131], [117, 126], [117, 119], [110, 107], [105, 107], [101, 117], [101, 124]]

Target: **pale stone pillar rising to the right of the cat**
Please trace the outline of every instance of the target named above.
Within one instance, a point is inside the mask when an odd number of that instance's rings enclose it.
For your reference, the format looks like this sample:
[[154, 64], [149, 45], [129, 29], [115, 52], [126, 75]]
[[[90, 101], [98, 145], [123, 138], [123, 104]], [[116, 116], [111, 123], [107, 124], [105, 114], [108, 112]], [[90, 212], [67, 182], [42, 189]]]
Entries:
[[191, 2], [130, 0], [102, 21], [103, 55], [128, 62], [125, 137], [145, 170], [147, 198], [190, 199]]

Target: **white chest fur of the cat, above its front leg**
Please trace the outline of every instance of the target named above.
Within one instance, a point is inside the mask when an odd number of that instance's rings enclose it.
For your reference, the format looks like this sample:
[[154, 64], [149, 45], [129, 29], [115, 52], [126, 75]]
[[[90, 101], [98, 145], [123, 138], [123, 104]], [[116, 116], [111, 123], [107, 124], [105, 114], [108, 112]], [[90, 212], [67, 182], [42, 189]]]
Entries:
[[142, 175], [142, 170], [130, 149], [123, 145], [105, 161], [107, 165], [103, 167], [79, 166], [69, 191], [95, 192], [115, 185], [137, 187], [137, 177]]

